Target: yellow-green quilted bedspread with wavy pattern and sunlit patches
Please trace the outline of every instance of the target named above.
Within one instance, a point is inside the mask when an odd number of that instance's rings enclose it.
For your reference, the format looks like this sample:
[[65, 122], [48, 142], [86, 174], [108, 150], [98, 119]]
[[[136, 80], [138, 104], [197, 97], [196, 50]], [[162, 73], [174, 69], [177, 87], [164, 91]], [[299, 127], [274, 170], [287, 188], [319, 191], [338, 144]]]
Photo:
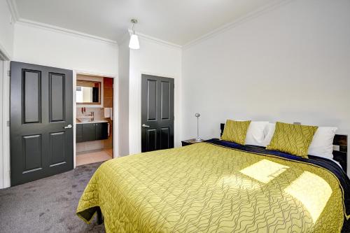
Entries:
[[106, 232], [341, 232], [344, 197], [322, 167], [197, 143], [104, 162], [76, 213]]

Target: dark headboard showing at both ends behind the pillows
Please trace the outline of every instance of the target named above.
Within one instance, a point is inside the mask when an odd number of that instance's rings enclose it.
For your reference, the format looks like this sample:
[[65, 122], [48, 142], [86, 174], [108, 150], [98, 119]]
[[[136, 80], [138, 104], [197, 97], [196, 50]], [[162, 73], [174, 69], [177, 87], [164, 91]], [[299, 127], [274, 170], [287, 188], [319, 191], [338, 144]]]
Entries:
[[[220, 136], [223, 135], [223, 129], [225, 128], [225, 124], [220, 124], [221, 133]], [[344, 134], [335, 134], [333, 139], [333, 145], [339, 146], [339, 150], [333, 150], [333, 159], [342, 166], [343, 170], [346, 172], [347, 170], [347, 157], [348, 157], [348, 136]]]

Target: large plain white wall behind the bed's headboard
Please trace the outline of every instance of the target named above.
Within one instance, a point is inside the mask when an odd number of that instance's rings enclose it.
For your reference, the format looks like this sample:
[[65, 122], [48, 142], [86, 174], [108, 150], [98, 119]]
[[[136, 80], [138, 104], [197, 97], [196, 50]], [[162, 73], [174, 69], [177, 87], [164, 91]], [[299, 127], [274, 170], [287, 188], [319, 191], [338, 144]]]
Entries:
[[[183, 138], [227, 118], [350, 134], [350, 1], [295, 0], [183, 51]], [[195, 101], [198, 100], [198, 101]]]

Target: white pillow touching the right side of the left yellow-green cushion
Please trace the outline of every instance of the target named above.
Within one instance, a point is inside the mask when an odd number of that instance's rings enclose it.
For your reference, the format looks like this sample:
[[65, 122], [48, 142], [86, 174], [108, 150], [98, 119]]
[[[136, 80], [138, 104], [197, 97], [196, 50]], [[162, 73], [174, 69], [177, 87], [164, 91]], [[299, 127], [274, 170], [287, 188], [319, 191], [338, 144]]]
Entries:
[[246, 145], [262, 146], [265, 139], [264, 129], [269, 124], [267, 121], [251, 121], [246, 132]]

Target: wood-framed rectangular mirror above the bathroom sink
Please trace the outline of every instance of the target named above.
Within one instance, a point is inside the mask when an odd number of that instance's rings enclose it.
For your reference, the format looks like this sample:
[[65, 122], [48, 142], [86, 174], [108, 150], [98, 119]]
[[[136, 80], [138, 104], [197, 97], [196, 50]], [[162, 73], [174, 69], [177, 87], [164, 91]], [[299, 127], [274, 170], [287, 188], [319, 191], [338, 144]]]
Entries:
[[76, 104], [101, 104], [101, 82], [76, 80]]

